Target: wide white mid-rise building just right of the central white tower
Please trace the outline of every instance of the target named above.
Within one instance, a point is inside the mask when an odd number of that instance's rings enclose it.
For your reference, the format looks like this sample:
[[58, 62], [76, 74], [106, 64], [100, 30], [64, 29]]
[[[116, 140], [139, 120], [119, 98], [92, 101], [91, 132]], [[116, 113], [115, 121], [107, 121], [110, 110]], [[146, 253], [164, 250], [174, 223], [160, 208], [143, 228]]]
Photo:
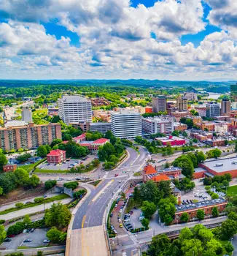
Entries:
[[142, 131], [148, 134], [156, 134], [158, 132], [164, 133], [166, 135], [171, 135], [174, 131], [174, 121], [173, 118], [158, 118], [158, 117], [148, 117], [141, 118]]

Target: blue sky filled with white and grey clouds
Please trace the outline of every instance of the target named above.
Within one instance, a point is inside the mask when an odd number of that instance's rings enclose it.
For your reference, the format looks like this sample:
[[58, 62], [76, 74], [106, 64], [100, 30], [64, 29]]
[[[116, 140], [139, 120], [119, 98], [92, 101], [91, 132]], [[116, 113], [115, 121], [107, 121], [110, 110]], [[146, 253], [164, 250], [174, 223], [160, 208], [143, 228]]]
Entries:
[[236, 40], [236, 0], [0, 1], [0, 79], [237, 80]]

